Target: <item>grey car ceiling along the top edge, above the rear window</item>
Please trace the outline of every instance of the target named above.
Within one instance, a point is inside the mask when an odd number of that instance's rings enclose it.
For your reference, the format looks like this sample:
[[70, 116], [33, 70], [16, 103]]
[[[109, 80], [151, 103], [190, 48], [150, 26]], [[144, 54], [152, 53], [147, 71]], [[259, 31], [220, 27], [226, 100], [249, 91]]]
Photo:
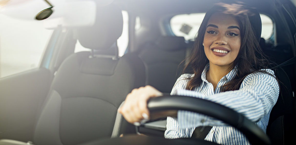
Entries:
[[[172, 14], [206, 12], [213, 4], [220, 0], [115, 0], [123, 9], [141, 14]], [[246, 4], [258, 9], [261, 13], [268, 13], [273, 6], [273, 0], [242, 0]]]

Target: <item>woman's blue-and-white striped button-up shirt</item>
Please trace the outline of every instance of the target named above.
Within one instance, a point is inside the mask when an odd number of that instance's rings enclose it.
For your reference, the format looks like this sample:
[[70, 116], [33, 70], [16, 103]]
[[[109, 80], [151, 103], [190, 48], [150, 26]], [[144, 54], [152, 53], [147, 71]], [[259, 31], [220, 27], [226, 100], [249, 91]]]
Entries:
[[[256, 72], [246, 76], [239, 90], [220, 93], [220, 87], [234, 78], [237, 68], [235, 67], [223, 76], [215, 90], [213, 85], [206, 80], [208, 70], [209, 65], [205, 66], [202, 72], [202, 83], [193, 91], [185, 90], [185, 88], [189, 81], [186, 78], [192, 77], [194, 74], [181, 75], [177, 79], [171, 95], [198, 97], [219, 103], [243, 114], [266, 133], [271, 109], [279, 96], [279, 85], [276, 79], [269, 74]], [[270, 69], [264, 69], [264, 71], [274, 75], [274, 71]], [[178, 111], [177, 119], [167, 118], [165, 138], [190, 138], [194, 129], [198, 126], [213, 126], [205, 138], [207, 141], [231, 145], [250, 144], [244, 134], [236, 128], [215, 118], [184, 110]]]

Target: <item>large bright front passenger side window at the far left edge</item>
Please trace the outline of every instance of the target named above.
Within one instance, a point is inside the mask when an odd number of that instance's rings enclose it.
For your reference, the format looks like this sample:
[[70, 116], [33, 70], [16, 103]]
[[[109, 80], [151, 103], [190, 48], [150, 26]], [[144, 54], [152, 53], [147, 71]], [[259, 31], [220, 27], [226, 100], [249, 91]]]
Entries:
[[0, 77], [39, 67], [52, 31], [42, 21], [0, 14]]

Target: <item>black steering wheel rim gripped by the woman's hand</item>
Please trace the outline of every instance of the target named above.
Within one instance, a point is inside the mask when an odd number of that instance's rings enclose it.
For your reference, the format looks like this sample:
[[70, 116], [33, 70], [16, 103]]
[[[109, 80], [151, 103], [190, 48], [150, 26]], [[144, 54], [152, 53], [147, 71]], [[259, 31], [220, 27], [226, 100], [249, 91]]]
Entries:
[[209, 115], [237, 128], [251, 144], [271, 144], [268, 136], [251, 120], [215, 102], [188, 96], [164, 95], [148, 100], [147, 107], [150, 112], [187, 110]]

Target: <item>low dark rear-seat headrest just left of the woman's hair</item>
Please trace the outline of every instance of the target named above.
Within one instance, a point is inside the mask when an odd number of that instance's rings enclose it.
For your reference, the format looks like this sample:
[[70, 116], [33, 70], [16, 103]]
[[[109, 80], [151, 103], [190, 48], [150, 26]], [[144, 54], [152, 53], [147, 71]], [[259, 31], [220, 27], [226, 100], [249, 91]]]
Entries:
[[156, 41], [156, 45], [164, 50], [185, 49], [186, 47], [184, 37], [176, 36], [162, 36]]

